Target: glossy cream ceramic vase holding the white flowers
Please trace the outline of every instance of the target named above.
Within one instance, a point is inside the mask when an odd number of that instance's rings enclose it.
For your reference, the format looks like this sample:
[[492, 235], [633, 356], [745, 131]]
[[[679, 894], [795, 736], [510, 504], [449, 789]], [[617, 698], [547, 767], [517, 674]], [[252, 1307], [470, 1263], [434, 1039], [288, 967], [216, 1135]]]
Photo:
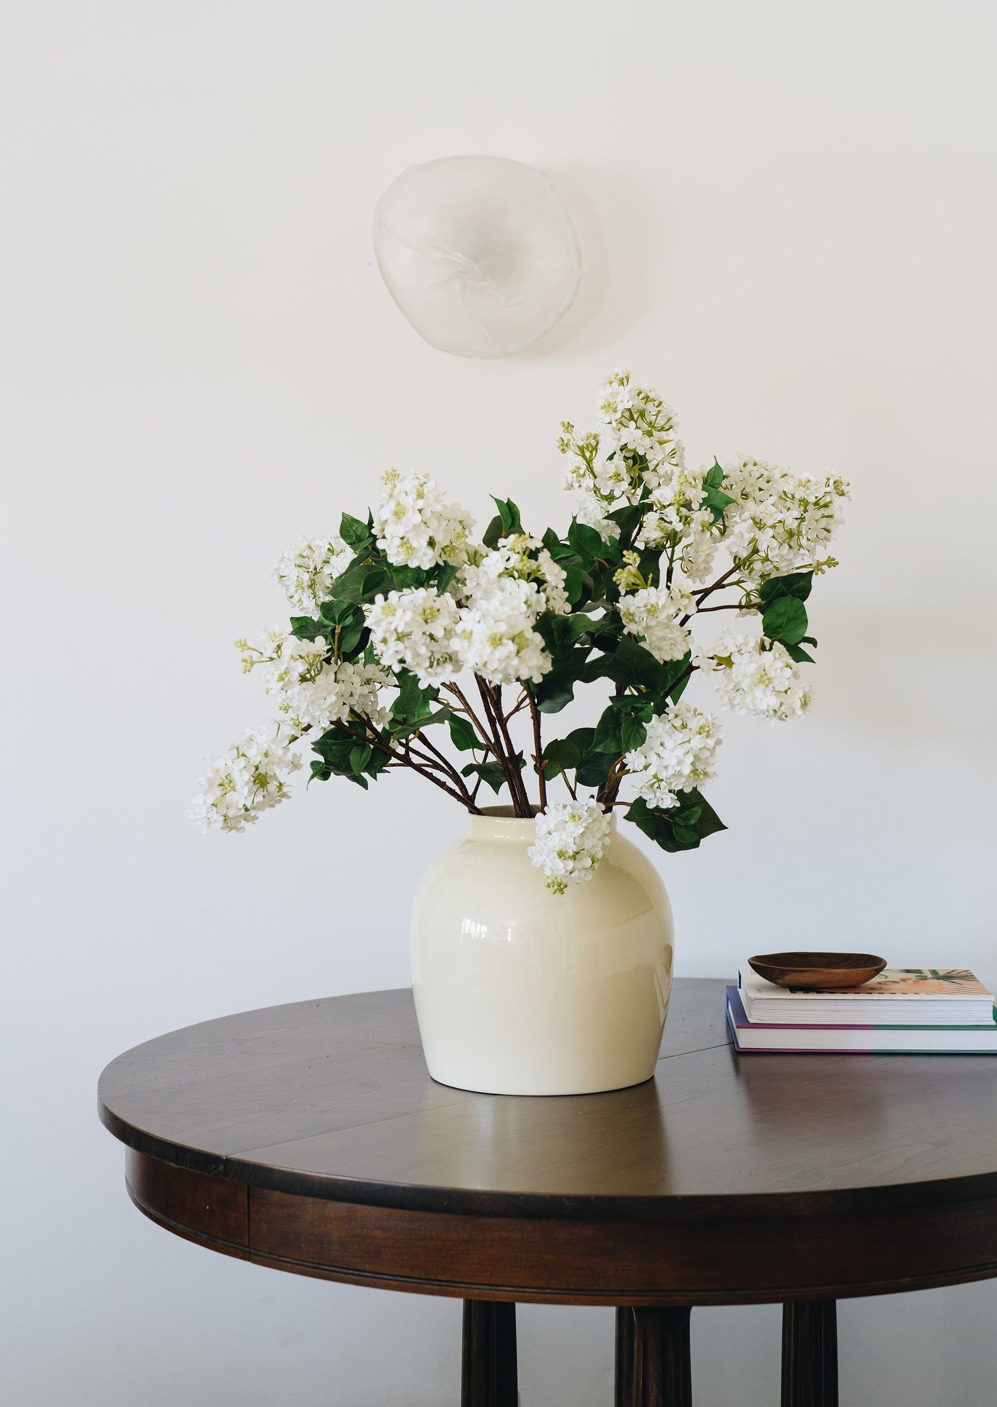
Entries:
[[491, 808], [429, 867], [412, 991], [429, 1074], [489, 1095], [588, 1095], [650, 1079], [672, 985], [672, 910], [616, 817], [591, 879], [544, 888], [533, 820]]

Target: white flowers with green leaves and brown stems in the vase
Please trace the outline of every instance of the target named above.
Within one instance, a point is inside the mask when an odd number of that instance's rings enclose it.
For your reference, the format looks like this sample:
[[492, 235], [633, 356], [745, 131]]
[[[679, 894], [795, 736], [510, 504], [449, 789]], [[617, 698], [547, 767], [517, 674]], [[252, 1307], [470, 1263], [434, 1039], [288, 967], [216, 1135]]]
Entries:
[[[366, 788], [409, 768], [470, 812], [482, 787], [505, 788], [516, 816], [537, 816], [530, 858], [555, 893], [592, 875], [616, 806], [668, 851], [723, 830], [700, 791], [720, 729], [682, 695], [699, 671], [738, 713], [807, 711], [804, 602], [837, 566], [827, 547], [848, 485], [755, 459], [688, 469], [675, 412], [626, 371], [603, 383], [596, 421], [586, 435], [561, 426], [577, 495], [564, 539], [533, 536], [496, 498], [475, 542], [432, 478], [391, 470], [366, 522], [343, 514], [337, 536], [281, 557], [274, 574], [300, 613], [236, 642], [277, 720], [211, 765], [193, 819], [243, 830], [288, 796], [308, 739], [312, 779]], [[702, 647], [693, 625], [717, 611], [740, 629]], [[598, 725], [544, 743], [544, 715], [600, 680], [612, 695]], [[567, 799], [551, 799], [554, 782]]]

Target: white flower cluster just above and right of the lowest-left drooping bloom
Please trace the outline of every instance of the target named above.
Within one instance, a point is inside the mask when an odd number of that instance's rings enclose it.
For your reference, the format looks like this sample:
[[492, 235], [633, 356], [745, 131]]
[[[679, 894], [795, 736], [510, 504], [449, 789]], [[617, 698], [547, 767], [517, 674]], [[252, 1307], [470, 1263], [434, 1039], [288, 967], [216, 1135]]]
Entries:
[[298, 640], [270, 630], [255, 644], [236, 640], [236, 646], [243, 651], [243, 670], [263, 667], [263, 687], [295, 733], [307, 727], [323, 732], [352, 712], [378, 725], [387, 718], [378, 702], [378, 689], [391, 682], [387, 670], [363, 660], [329, 663], [329, 644], [322, 636]]

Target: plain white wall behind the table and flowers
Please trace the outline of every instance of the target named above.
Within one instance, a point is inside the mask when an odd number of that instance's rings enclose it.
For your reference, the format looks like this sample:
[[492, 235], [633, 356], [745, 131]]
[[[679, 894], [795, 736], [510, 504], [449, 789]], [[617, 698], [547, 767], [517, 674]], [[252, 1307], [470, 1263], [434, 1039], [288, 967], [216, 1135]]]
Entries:
[[[7, 0], [4, 1404], [457, 1400], [457, 1303], [166, 1235], [94, 1083], [188, 1021], [406, 981], [408, 896], [460, 815], [333, 782], [197, 834], [204, 757], [267, 716], [229, 642], [280, 620], [276, 553], [388, 464], [565, 522], [557, 425], [615, 366], [696, 460], [854, 483], [820, 709], [731, 725], [728, 834], [658, 857], [679, 971], [837, 944], [997, 976], [987, 10]], [[425, 346], [373, 259], [384, 187], [463, 152], [550, 172], [582, 241], [577, 307], [508, 362]], [[844, 1304], [842, 1403], [990, 1403], [996, 1307]], [[778, 1310], [695, 1323], [697, 1407], [771, 1403]], [[610, 1400], [607, 1310], [520, 1325], [526, 1407]]]

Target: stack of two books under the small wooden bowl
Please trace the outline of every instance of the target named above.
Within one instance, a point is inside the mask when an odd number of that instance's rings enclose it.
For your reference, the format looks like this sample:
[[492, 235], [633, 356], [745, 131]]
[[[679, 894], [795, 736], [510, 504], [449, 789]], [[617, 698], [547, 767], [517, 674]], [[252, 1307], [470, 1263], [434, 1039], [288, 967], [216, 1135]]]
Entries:
[[744, 1054], [997, 1055], [993, 992], [965, 968], [885, 968], [863, 986], [803, 992], [742, 967], [727, 1024]]

